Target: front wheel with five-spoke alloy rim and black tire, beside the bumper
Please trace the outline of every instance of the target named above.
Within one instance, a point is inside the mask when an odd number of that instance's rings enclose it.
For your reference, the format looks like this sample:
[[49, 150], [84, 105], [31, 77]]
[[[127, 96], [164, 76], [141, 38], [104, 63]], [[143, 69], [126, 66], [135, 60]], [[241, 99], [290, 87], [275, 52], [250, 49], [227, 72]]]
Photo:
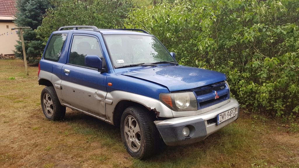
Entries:
[[132, 157], [146, 159], [157, 151], [160, 134], [154, 124], [154, 114], [132, 106], [123, 112], [120, 121], [123, 144]]

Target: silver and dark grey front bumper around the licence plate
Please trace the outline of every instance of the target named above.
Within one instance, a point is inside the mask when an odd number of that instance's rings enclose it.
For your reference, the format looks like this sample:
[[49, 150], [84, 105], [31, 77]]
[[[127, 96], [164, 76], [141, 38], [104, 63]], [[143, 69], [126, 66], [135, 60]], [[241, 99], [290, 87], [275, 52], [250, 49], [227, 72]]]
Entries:
[[[215, 119], [217, 114], [232, 108], [236, 109], [236, 116], [217, 125], [217, 121]], [[154, 123], [157, 126], [157, 129], [159, 130], [166, 145], [176, 146], [187, 145], [204, 140], [209, 135], [227, 126], [229, 123], [232, 123], [238, 118], [239, 103], [237, 100], [231, 98], [230, 103], [203, 114], [187, 117], [175, 117], [167, 120], [155, 121]], [[182, 130], [185, 126], [191, 128], [190, 136], [187, 138], [182, 135]]]

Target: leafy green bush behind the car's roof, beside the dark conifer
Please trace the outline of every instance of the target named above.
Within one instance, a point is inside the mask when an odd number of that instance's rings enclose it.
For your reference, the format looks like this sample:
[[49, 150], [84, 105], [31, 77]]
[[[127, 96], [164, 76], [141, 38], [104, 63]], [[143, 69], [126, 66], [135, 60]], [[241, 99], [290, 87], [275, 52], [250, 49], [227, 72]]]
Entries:
[[36, 30], [37, 37], [47, 42], [51, 33], [62, 26], [92, 25], [98, 28], [123, 26], [132, 0], [49, 0], [52, 8], [46, 12], [42, 25]]

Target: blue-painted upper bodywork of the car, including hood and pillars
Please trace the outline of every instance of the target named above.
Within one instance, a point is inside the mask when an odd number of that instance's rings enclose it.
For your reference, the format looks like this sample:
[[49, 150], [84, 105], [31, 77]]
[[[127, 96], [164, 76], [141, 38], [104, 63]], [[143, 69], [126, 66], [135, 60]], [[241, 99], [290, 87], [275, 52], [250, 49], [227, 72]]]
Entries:
[[[127, 68], [113, 68], [108, 49], [105, 45], [104, 35], [131, 34], [152, 36], [136, 31], [123, 30], [104, 30], [99, 32], [90, 30], [61, 30], [53, 32], [49, 39], [55, 33], [67, 33], [60, 58], [57, 62], [42, 59], [40, 61], [41, 70], [50, 71], [49, 63], [53, 64], [52, 73], [62, 80], [74, 82], [86, 87], [97, 88], [102, 91], [127, 91], [135, 94], [144, 95], [159, 99], [160, 93], [169, 93], [174, 91], [194, 90], [205, 85], [217, 83], [226, 80], [226, 75], [206, 69], [193, 68], [170, 63], [155, 64], [157, 66], [135, 66]], [[98, 39], [103, 62], [105, 61], [108, 72], [97, 72], [94, 68], [84, 68], [68, 64], [68, 56], [71, 51], [72, 38], [74, 35], [94, 36]], [[48, 44], [46, 45], [46, 48]], [[168, 52], [168, 51], [167, 51]], [[46, 66], [45, 66], [46, 65]], [[45, 67], [48, 67], [45, 69]], [[70, 74], [65, 74], [63, 68], [71, 70]], [[92, 73], [90, 73], [92, 72]], [[112, 86], [108, 86], [108, 83]], [[205, 99], [205, 98], [200, 98]], [[199, 100], [199, 101], [200, 101]]]

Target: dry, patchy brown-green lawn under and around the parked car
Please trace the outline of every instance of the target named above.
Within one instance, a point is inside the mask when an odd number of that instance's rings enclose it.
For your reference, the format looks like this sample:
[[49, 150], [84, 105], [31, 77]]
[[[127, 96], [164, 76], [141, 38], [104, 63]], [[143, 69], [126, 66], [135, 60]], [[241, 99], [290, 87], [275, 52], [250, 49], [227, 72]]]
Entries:
[[299, 167], [298, 122], [243, 112], [199, 143], [167, 146], [150, 159], [137, 160], [127, 154], [118, 127], [68, 108], [62, 121], [45, 119], [37, 67], [28, 67], [29, 76], [19, 59], [0, 60], [0, 67], [0, 168]]

